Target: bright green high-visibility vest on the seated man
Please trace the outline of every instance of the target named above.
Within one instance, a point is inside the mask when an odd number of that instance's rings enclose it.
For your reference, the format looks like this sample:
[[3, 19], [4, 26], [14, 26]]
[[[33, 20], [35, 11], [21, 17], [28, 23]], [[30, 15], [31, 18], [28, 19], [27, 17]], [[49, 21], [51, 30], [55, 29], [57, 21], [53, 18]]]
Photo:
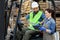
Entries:
[[33, 27], [33, 24], [34, 23], [35, 25], [39, 23], [39, 19], [41, 18], [41, 15], [42, 15], [42, 11], [39, 11], [34, 17], [33, 17], [33, 12], [30, 13], [30, 18], [29, 18], [29, 29], [31, 30], [35, 30], [35, 28]]

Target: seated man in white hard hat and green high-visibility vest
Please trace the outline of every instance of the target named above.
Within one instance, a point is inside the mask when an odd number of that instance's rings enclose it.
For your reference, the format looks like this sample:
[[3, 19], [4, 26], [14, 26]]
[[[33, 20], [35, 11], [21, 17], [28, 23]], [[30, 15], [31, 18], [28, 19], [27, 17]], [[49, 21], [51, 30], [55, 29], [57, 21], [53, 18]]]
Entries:
[[31, 34], [34, 34], [36, 31], [34, 26], [38, 26], [40, 22], [45, 18], [45, 15], [42, 10], [39, 10], [39, 5], [37, 2], [32, 2], [32, 12], [26, 16], [27, 21], [29, 22], [29, 26], [23, 36], [22, 40], [29, 40]]

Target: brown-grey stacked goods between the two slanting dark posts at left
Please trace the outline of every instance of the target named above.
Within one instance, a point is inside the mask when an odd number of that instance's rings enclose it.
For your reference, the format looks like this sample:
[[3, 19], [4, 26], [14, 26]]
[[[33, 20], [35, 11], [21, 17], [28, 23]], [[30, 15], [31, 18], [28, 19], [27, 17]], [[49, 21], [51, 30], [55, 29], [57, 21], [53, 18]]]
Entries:
[[9, 19], [9, 25], [11, 26], [12, 29], [14, 29], [15, 24], [16, 24], [18, 10], [19, 10], [18, 8], [12, 7], [12, 11], [11, 11], [10, 19]]

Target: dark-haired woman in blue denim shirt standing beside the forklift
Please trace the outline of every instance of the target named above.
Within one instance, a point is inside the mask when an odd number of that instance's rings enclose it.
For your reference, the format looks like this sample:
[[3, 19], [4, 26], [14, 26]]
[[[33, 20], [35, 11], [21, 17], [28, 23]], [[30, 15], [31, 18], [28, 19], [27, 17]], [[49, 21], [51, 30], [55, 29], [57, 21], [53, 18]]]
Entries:
[[40, 31], [43, 31], [43, 40], [55, 40], [54, 33], [55, 33], [55, 28], [56, 28], [56, 23], [55, 20], [52, 18], [53, 10], [51, 9], [46, 9], [45, 10], [45, 15], [46, 18], [44, 19], [43, 26], [40, 27]]

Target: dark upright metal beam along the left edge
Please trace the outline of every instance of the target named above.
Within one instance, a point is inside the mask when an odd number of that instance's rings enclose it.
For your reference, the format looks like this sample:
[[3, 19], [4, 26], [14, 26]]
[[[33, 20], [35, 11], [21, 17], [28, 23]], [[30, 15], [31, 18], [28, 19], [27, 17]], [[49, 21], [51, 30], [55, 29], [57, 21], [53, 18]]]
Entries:
[[4, 40], [4, 5], [5, 0], [0, 0], [0, 40]]

